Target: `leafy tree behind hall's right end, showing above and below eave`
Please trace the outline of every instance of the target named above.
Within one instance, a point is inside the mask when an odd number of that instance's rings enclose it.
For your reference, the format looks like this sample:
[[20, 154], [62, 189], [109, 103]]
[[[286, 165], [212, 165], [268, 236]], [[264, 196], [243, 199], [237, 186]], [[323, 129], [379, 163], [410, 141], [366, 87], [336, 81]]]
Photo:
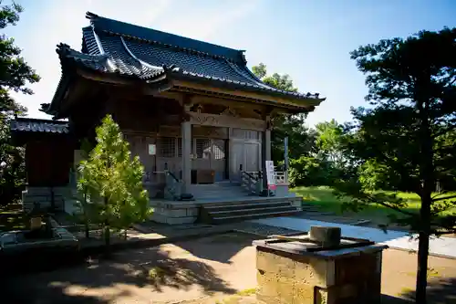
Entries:
[[[276, 88], [296, 92], [293, 80], [288, 75], [267, 75], [266, 66], [260, 63], [252, 68], [255, 76], [264, 83]], [[288, 153], [290, 158], [299, 158], [301, 155], [309, 155], [315, 152], [314, 133], [306, 126], [306, 114], [278, 114], [273, 118], [274, 129], [271, 136], [272, 158], [275, 162], [284, 160], [284, 139], [288, 136]]]

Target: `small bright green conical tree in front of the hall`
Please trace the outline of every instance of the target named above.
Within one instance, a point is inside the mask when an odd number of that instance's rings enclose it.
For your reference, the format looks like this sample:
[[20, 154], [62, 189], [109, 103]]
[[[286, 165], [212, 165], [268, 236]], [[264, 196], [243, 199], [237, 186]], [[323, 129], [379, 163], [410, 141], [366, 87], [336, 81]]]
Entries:
[[144, 168], [138, 156], [131, 157], [119, 125], [108, 115], [96, 133], [97, 145], [78, 166], [78, 192], [90, 206], [88, 219], [102, 225], [109, 250], [111, 229], [127, 229], [146, 220], [151, 210], [142, 188]]

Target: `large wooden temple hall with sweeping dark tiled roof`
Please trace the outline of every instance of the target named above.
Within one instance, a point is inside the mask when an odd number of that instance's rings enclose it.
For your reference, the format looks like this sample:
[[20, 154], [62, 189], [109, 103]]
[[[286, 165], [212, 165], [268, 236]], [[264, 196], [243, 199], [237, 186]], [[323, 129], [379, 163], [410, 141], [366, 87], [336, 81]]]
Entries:
[[[112, 115], [144, 165], [156, 221], [299, 210], [285, 173], [276, 173], [274, 198], [260, 196], [264, 161], [271, 160], [271, 119], [312, 111], [325, 99], [264, 84], [247, 68], [242, 50], [92, 13], [87, 18], [81, 51], [57, 46], [62, 76], [41, 110], [54, 121], [67, 120], [73, 142], [93, 139], [100, 120]], [[73, 147], [76, 152], [66, 153], [75, 162], [80, 156]], [[194, 200], [182, 202], [182, 194]], [[261, 208], [249, 214], [245, 210], [254, 208], [245, 204], [254, 202]], [[233, 207], [242, 204], [244, 212]]]

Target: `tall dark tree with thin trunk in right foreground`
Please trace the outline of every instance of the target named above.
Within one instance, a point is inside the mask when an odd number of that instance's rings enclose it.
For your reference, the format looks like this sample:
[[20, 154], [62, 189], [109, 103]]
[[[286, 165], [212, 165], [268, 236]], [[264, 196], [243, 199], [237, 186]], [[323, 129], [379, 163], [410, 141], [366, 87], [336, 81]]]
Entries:
[[[355, 140], [349, 144], [371, 173], [394, 177], [397, 190], [420, 196], [420, 212], [406, 210], [394, 194], [368, 191], [363, 183], [339, 183], [352, 207], [381, 204], [396, 210], [400, 224], [418, 232], [416, 301], [426, 303], [429, 239], [443, 226], [454, 229], [455, 195], [433, 194], [436, 181], [454, 180], [456, 145], [456, 29], [421, 31], [406, 39], [381, 40], [351, 53], [367, 75], [369, 109], [352, 110]], [[394, 218], [393, 218], [394, 220]]]

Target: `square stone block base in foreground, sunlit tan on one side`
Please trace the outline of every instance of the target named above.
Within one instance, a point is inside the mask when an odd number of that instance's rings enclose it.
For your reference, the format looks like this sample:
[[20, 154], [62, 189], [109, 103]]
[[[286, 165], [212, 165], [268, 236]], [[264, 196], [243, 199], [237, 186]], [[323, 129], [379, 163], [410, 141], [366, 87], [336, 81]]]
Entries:
[[[310, 253], [296, 249], [302, 247], [299, 242], [280, 241], [275, 246], [254, 242], [257, 299], [265, 304], [379, 303], [381, 251], [387, 246]], [[285, 243], [292, 250], [282, 250]]]

